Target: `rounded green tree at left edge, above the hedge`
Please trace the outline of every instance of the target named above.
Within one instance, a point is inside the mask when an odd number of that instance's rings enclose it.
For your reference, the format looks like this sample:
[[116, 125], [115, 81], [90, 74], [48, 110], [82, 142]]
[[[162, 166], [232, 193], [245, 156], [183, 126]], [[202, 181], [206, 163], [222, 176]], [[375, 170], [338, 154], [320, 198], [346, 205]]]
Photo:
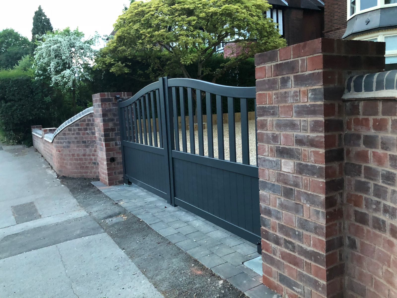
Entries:
[[29, 54], [29, 39], [14, 29], [0, 31], [0, 69], [10, 69]]

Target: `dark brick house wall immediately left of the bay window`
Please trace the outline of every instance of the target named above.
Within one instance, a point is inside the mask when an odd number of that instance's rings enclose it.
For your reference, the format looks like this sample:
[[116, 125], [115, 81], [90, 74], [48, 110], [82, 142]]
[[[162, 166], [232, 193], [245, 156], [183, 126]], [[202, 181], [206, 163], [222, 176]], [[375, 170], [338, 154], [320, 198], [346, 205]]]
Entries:
[[347, 2], [338, 0], [325, 1], [324, 37], [341, 38], [347, 26]]

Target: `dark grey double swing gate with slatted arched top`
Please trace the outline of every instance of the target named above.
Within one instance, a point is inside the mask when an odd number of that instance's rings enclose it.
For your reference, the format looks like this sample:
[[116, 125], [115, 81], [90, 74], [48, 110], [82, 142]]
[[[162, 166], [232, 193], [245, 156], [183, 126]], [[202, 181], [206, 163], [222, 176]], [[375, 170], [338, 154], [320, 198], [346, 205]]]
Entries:
[[255, 106], [255, 87], [166, 77], [146, 86], [119, 102], [125, 182], [257, 244]]

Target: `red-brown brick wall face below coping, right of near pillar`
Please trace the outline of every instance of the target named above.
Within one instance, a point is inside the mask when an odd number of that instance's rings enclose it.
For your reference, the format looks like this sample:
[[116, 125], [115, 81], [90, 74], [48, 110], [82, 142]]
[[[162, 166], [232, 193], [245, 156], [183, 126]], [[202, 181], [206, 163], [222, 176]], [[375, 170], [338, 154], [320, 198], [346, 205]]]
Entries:
[[397, 297], [397, 101], [345, 103], [346, 288]]

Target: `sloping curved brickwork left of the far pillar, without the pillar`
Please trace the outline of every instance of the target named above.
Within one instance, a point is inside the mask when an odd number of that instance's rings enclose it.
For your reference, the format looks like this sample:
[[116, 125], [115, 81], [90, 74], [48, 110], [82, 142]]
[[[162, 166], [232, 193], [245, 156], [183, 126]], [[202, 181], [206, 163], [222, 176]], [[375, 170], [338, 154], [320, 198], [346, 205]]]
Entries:
[[41, 128], [42, 137], [32, 134], [33, 146], [43, 155], [60, 176], [98, 178], [98, 159], [93, 114], [88, 114], [67, 126], [54, 138], [44, 139], [56, 128]]

